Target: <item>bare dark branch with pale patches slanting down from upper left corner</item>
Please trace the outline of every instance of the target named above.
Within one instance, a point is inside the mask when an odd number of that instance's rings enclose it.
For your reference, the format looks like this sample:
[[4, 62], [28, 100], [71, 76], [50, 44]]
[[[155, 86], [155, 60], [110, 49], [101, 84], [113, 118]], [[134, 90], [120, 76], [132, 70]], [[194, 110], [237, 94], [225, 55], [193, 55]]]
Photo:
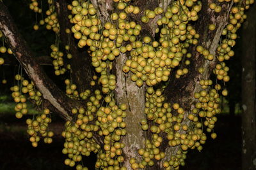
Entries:
[[13, 54], [24, 67], [29, 78], [35, 83], [44, 99], [49, 101], [61, 117], [71, 120], [69, 113], [72, 108], [79, 108], [81, 104], [67, 97], [56, 84], [45, 74], [44, 70], [35, 61], [26, 41], [20, 35], [7, 7], [0, 2], [0, 30], [6, 36]]

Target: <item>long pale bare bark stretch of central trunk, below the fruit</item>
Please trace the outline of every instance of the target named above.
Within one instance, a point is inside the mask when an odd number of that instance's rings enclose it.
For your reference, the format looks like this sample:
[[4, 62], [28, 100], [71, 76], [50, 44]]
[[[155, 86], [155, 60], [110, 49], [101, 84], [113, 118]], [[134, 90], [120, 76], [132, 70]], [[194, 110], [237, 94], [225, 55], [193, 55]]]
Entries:
[[125, 144], [124, 166], [128, 170], [132, 169], [129, 160], [135, 158], [140, 160], [138, 149], [144, 148], [143, 131], [141, 129], [140, 121], [145, 117], [145, 88], [137, 87], [136, 83], [131, 81], [131, 73], [125, 74], [122, 71], [123, 64], [127, 60], [125, 54], [121, 54], [115, 61], [116, 69], [116, 89], [115, 99], [118, 104], [125, 103], [127, 107], [127, 117], [125, 123], [127, 124], [127, 134], [122, 138], [122, 143]]

